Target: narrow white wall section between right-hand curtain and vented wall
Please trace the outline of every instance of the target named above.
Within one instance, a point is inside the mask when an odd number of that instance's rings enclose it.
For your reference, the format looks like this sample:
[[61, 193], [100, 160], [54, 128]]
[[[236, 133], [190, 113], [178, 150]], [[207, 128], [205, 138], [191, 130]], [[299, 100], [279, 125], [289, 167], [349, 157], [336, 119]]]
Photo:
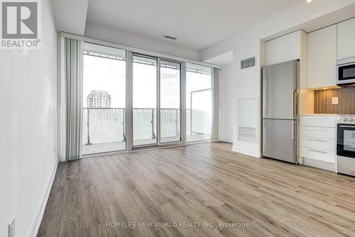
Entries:
[[219, 140], [233, 142], [233, 65], [223, 65], [219, 75]]

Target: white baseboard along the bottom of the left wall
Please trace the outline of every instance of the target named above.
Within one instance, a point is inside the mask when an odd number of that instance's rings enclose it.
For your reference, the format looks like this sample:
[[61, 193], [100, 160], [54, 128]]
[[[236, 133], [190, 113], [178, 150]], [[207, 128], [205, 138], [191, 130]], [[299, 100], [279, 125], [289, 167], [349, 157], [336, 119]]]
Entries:
[[40, 206], [38, 206], [38, 210], [35, 214], [35, 219], [33, 220], [33, 224], [31, 226], [30, 231], [28, 232], [27, 236], [35, 237], [37, 236], [38, 229], [40, 228], [40, 222], [42, 222], [43, 214], [45, 211], [45, 206], [47, 205], [48, 202], [48, 197], [50, 194], [50, 189], [52, 188], [55, 173], [57, 171], [58, 167], [58, 160], [55, 164], [55, 167], [52, 172], [52, 177], [50, 177], [50, 180], [48, 181], [46, 187], [45, 187], [45, 192], [43, 193], [42, 198], [40, 199]]

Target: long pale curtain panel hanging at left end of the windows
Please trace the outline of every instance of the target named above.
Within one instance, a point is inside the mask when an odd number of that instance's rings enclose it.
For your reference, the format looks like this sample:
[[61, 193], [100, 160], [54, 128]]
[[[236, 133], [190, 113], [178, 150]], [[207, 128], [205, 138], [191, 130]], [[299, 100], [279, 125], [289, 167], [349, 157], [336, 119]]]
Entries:
[[80, 158], [82, 143], [82, 40], [61, 38], [61, 82], [65, 84], [65, 160]]

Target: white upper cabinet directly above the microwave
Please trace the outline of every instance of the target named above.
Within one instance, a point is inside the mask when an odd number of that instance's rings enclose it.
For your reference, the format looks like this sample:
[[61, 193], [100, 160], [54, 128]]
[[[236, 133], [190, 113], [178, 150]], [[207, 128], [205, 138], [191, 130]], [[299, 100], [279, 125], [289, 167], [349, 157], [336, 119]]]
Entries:
[[338, 60], [355, 57], [355, 18], [338, 23]]

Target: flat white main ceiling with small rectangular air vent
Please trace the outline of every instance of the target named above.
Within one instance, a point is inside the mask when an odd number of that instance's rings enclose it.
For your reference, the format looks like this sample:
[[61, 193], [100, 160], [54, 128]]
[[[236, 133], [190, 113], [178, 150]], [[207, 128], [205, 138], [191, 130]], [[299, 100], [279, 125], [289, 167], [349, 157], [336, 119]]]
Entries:
[[304, 1], [89, 0], [87, 21], [202, 50]]

